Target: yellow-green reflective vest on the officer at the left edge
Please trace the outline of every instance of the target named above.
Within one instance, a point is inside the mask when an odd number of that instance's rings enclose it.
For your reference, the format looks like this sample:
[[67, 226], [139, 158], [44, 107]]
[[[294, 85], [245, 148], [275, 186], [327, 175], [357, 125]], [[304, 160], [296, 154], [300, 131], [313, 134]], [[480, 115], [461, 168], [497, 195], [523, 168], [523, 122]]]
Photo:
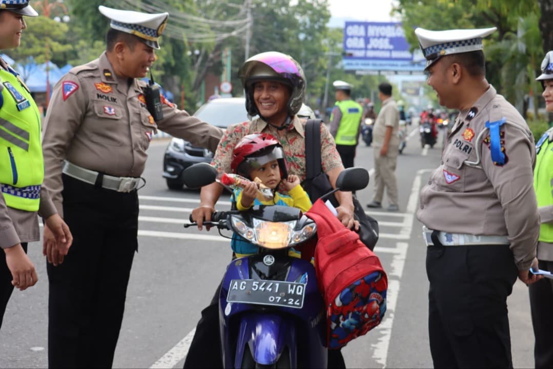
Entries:
[[0, 189], [6, 205], [38, 211], [44, 159], [40, 112], [27, 86], [0, 68]]

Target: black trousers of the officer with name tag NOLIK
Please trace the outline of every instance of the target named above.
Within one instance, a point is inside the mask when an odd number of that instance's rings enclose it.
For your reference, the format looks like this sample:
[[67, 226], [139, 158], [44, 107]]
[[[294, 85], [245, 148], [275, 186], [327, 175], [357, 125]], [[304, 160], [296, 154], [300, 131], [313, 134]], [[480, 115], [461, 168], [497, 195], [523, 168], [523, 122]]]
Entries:
[[63, 181], [74, 240], [62, 264], [47, 265], [48, 365], [111, 368], [138, 246], [138, 196]]

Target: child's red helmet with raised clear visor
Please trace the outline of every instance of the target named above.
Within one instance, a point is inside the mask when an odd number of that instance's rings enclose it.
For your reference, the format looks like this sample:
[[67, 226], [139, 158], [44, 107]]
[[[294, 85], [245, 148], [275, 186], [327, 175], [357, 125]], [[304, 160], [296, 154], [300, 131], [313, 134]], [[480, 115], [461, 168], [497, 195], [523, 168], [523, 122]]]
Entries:
[[234, 173], [249, 178], [252, 170], [273, 160], [278, 161], [280, 178], [288, 177], [284, 149], [278, 139], [268, 133], [248, 134], [232, 151], [231, 169]]

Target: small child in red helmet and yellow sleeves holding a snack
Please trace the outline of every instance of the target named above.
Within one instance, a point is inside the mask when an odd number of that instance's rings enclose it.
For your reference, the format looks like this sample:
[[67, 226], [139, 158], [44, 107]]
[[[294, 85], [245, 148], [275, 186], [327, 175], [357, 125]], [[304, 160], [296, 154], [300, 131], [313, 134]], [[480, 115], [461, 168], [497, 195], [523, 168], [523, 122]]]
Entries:
[[[245, 211], [253, 205], [286, 205], [297, 207], [303, 212], [311, 208], [311, 200], [301, 187], [299, 177], [288, 175], [284, 150], [278, 139], [271, 134], [253, 133], [244, 136], [232, 152], [231, 168], [234, 173], [252, 180], [243, 188], [234, 190], [238, 210]], [[259, 185], [255, 183], [255, 178], [259, 178], [263, 185], [274, 191], [272, 199], [259, 200]], [[275, 190], [281, 181], [289, 196]], [[232, 236], [231, 247], [237, 257], [248, 256], [258, 251], [257, 246], [237, 233]], [[299, 257], [298, 252], [292, 248], [289, 254]]]

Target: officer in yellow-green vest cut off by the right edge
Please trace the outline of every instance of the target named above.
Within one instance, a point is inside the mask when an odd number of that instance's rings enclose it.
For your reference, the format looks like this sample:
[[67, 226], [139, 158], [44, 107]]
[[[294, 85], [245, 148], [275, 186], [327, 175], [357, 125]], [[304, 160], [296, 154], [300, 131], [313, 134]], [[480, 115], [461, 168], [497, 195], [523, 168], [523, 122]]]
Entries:
[[[541, 63], [541, 75], [536, 78], [544, 88], [542, 96], [545, 110], [553, 112], [553, 51], [545, 55]], [[538, 266], [553, 272], [553, 128], [548, 129], [536, 144], [536, 168], [534, 189], [540, 212], [540, 236], [538, 238]], [[553, 367], [553, 280], [544, 278], [530, 284], [530, 311], [534, 327], [534, 367]]]

